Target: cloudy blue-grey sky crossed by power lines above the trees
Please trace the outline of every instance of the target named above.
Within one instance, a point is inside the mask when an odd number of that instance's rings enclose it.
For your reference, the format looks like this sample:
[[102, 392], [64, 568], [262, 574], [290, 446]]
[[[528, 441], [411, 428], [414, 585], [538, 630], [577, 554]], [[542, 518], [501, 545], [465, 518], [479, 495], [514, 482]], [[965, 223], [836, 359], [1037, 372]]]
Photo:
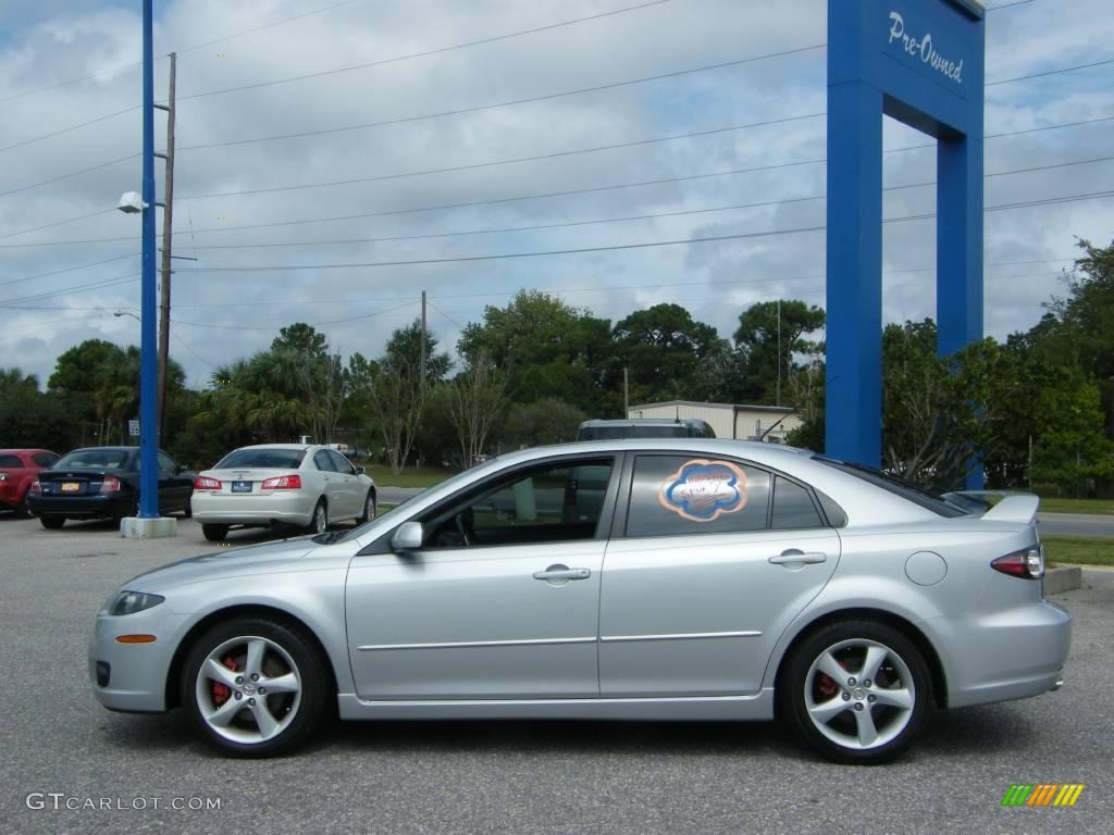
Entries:
[[[1006, 8], [987, 17], [988, 81], [1114, 58], [1106, 0], [989, 4]], [[172, 355], [202, 386], [304, 321], [375, 356], [422, 289], [450, 350], [522, 287], [613, 321], [676, 302], [725, 336], [758, 301], [822, 305], [822, 230], [459, 258], [823, 225], [824, 9], [156, 0], [156, 55], [179, 53], [174, 253], [196, 258], [175, 262]], [[81, 340], [138, 343], [114, 313], [138, 314], [140, 224], [114, 206], [140, 188], [139, 57], [137, 1], [0, 3], [0, 365], [45, 381]], [[1075, 198], [1114, 189], [1112, 78], [1102, 63], [987, 88], [987, 134], [1008, 136], [986, 144], [986, 205], [1073, 198], [987, 213], [990, 335], [1039, 318], [1076, 236], [1111, 242], [1114, 200]], [[158, 112], [157, 148], [164, 128]], [[889, 149], [925, 143], [886, 125]], [[887, 186], [935, 175], [930, 148], [886, 155]], [[885, 204], [932, 213], [935, 189]], [[934, 314], [935, 232], [886, 225], [887, 320]]]

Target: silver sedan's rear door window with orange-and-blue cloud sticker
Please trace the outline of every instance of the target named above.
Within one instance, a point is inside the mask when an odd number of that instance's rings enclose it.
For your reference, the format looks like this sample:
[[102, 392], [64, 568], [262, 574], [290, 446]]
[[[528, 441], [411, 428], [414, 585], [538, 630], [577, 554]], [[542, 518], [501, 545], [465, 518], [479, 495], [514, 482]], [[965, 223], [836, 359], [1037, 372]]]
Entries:
[[639, 455], [627, 537], [734, 533], [766, 529], [770, 473], [726, 459]]

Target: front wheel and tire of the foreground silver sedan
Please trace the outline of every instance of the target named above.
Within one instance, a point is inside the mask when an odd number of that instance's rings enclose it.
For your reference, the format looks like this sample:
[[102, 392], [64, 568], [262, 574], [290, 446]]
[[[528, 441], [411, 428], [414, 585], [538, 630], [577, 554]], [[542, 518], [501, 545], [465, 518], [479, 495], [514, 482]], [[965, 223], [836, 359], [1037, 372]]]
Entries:
[[[248, 641], [267, 646], [256, 681], [245, 675], [240, 685], [221, 685], [212, 676], [202, 676], [214, 654], [224, 666], [247, 674]], [[261, 695], [256, 689], [291, 672], [300, 687], [296, 694]], [[236, 757], [274, 757], [293, 752], [313, 736], [330, 701], [335, 700], [331, 681], [325, 660], [303, 629], [271, 618], [241, 617], [214, 626], [194, 641], [179, 688], [183, 709], [208, 745]], [[242, 690], [240, 698], [234, 698], [236, 690]], [[218, 701], [222, 696], [224, 700]], [[205, 719], [205, 713], [212, 716], [214, 710], [237, 705], [223, 730]], [[261, 709], [275, 721], [277, 733], [270, 738], [264, 738], [255, 719]]]

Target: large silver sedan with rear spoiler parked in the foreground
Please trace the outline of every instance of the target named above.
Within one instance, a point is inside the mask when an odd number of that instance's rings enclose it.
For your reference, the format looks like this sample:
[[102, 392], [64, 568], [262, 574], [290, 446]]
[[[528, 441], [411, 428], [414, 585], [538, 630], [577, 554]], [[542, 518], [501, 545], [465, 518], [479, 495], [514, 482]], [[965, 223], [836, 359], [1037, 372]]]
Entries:
[[[1036, 497], [971, 511], [771, 444], [628, 440], [489, 461], [346, 532], [137, 577], [97, 698], [233, 755], [344, 719], [756, 719], [901, 754], [935, 708], [1062, 684]], [[1051, 743], [1049, 743], [1051, 744]]]

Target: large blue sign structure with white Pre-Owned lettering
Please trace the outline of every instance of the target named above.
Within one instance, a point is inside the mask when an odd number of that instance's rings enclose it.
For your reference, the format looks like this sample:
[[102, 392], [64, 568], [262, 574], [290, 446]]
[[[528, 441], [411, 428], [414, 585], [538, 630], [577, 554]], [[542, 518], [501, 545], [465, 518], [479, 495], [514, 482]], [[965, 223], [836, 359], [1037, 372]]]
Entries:
[[[941, 355], [983, 337], [984, 7], [828, 0], [827, 452], [881, 462], [882, 116], [938, 141]], [[976, 470], [968, 489], [983, 485]]]

